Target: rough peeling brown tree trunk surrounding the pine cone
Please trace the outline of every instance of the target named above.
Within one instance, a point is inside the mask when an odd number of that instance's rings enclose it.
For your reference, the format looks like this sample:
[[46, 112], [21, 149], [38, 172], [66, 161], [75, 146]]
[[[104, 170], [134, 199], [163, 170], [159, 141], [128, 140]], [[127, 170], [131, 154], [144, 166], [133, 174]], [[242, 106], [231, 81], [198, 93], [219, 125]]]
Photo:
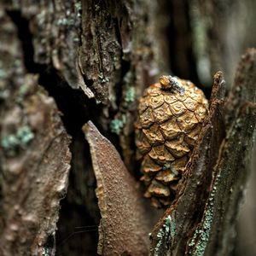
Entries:
[[[255, 49], [234, 74], [255, 44], [247, 20], [256, 6], [231, 2], [0, 3], [1, 255], [235, 251], [256, 119]], [[210, 98], [166, 212], [143, 199], [134, 143], [137, 100], [163, 73]]]

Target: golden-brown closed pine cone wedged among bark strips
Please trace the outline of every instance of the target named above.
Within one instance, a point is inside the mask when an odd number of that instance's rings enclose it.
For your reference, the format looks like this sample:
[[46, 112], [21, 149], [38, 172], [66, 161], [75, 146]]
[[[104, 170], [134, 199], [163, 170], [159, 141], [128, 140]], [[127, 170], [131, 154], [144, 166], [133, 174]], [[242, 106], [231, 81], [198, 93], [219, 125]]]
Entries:
[[136, 124], [137, 157], [142, 161], [145, 197], [154, 207], [167, 207], [207, 116], [207, 99], [189, 81], [160, 77], [140, 99]]

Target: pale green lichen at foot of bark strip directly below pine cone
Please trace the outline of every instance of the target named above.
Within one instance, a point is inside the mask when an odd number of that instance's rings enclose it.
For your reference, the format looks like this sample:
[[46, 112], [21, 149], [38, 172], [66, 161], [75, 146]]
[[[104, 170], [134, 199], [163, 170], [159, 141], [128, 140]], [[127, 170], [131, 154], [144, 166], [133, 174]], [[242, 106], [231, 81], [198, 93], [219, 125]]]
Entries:
[[171, 217], [171, 215], [168, 215], [165, 220], [165, 224], [156, 235], [159, 241], [157, 245], [154, 247], [154, 256], [160, 255], [160, 247], [162, 247], [163, 244], [166, 247], [166, 249], [169, 248], [170, 244], [172, 244], [172, 239], [175, 236], [175, 232], [176, 232], [175, 220]]

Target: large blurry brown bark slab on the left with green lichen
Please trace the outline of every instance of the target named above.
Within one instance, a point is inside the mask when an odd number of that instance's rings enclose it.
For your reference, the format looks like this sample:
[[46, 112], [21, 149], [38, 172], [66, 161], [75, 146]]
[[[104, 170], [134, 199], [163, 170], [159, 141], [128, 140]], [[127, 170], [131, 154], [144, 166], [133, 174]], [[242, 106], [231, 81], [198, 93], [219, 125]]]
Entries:
[[0, 7], [0, 254], [54, 255], [71, 154], [54, 100], [26, 73], [13, 22]]

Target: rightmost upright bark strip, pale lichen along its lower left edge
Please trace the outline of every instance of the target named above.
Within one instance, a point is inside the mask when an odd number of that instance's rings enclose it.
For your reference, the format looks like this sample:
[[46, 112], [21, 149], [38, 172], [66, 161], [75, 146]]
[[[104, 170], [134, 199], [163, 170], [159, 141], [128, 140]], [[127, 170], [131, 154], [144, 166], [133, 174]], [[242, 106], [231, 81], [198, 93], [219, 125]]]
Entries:
[[247, 181], [255, 125], [255, 105], [245, 104], [222, 145], [204, 216], [189, 241], [190, 255], [225, 256], [234, 250], [236, 215]]

